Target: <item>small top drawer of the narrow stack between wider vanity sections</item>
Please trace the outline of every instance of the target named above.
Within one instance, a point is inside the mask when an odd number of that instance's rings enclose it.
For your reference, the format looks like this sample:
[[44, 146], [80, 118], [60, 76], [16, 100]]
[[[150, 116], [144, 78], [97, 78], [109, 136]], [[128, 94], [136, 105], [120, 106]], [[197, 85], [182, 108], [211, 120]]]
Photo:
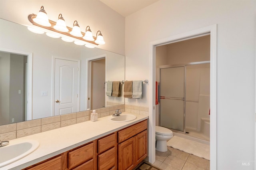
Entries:
[[116, 144], [116, 133], [110, 134], [98, 140], [98, 153], [104, 152]]

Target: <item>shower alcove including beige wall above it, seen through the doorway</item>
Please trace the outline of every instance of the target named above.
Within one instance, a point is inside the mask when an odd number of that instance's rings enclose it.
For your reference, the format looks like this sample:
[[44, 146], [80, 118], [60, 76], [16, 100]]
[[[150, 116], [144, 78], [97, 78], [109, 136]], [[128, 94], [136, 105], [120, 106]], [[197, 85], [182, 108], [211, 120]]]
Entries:
[[209, 60], [210, 35], [156, 47], [157, 125], [210, 141]]

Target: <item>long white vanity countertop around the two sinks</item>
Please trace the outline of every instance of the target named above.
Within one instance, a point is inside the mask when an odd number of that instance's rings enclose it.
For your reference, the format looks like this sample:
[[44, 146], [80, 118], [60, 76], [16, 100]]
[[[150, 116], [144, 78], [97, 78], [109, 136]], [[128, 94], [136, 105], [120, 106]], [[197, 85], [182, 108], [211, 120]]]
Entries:
[[9, 140], [10, 143], [16, 142], [16, 140], [37, 140], [40, 145], [28, 156], [6, 165], [0, 168], [0, 170], [20, 170], [22, 168], [26, 168], [30, 165], [41, 162], [42, 160], [46, 160], [52, 156], [56, 156], [70, 149], [76, 148], [77, 146], [86, 144], [92, 140], [148, 119], [148, 116], [136, 116], [137, 118], [135, 120], [128, 122], [111, 122], [108, 119], [112, 116], [102, 117], [95, 122], [86, 121], [67, 127], [56, 128], [54, 130]]

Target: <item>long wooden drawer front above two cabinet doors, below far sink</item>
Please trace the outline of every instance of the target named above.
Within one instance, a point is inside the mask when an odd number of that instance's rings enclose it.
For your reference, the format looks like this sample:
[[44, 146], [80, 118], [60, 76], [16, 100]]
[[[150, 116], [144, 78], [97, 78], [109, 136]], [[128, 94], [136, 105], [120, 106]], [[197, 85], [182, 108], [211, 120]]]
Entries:
[[142, 121], [131, 127], [125, 128], [118, 132], [118, 143], [146, 130], [148, 128], [148, 120]]

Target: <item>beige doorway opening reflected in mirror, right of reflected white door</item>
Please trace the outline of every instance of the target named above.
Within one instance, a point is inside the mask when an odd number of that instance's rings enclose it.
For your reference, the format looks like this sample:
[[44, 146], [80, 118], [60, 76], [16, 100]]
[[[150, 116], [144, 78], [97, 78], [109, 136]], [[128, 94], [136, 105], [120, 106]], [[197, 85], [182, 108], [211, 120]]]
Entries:
[[105, 58], [91, 61], [91, 109], [106, 106], [105, 63]]

